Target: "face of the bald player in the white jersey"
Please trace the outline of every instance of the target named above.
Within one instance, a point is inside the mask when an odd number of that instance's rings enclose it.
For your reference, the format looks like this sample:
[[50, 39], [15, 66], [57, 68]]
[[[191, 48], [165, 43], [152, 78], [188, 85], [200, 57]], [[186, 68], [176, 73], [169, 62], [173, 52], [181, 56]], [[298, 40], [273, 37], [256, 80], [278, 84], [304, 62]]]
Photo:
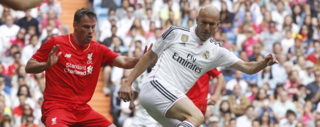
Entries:
[[197, 17], [197, 36], [201, 41], [208, 40], [218, 29], [219, 15], [201, 13]]

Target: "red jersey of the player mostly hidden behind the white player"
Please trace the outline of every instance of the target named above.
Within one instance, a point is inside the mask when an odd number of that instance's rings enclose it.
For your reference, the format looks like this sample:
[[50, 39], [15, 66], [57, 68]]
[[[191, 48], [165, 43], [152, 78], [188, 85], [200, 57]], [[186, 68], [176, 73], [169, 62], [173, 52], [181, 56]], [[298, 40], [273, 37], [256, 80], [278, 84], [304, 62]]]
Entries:
[[210, 76], [216, 78], [220, 74], [221, 72], [217, 68], [204, 73], [186, 94], [203, 114], [207, 108], [206, 98], [208, 96]]

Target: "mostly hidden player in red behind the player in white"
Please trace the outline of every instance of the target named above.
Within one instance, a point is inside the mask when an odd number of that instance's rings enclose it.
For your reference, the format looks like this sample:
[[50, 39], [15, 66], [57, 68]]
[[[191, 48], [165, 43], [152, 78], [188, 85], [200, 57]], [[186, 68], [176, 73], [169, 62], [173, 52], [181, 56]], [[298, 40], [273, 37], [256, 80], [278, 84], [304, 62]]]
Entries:
[[[208, 91], [209, 91], [209, 81], [210, 76], [212, 78], [217, 78], [217, 87], [214, 95], [210, 97], [210, 100], [207, 100]], [[224, 86], [225, 80], [223, 78], [222, 73], [217, 69], [212, 69], [206, 73], [204, 73], [195, 83], [194, 86], [187, 92], [188, 98], [200, 109], [202, 114], [204, 115], [207, 110], [207, 104], [214, 105], [218, 100], [218, 96], [221, 93], [222, 86]]]

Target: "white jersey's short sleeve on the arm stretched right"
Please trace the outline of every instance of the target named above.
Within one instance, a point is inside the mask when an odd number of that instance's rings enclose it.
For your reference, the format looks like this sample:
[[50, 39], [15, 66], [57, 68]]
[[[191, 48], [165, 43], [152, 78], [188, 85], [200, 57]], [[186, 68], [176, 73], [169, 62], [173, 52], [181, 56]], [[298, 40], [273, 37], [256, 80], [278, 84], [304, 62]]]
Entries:
[[[219, 43], [220, 44], [220, 43]], [[225, 47], [219, 47], [218, 64], [223, 67], [230, 67], [234, 63], [240, 61], [240, 59], [234, 55], [230, 50]]]

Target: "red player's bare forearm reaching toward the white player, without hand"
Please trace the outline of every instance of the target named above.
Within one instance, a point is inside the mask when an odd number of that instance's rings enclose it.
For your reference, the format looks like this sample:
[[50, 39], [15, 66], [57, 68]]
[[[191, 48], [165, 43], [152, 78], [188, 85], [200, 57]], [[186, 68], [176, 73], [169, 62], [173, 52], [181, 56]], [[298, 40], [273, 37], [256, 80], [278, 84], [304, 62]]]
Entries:
[[131, 69], [138, 63], [138, 61], [139, 58], [119, 56], [114, 60], [114, 62], [111, 65], [123, 69]]

